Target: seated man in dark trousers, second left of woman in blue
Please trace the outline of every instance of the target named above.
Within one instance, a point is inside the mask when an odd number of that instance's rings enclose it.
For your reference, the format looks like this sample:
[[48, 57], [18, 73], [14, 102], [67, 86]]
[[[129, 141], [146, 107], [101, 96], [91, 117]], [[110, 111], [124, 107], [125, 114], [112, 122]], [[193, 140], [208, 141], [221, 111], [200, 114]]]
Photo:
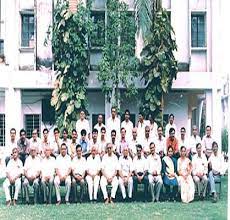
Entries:
[[137, 196], [137, 184], [144, 184], [144, 199], [147, 201], [148, 196], [148, 186], [149, 180], [147, 175], [147, 161], [144, 156], [142, 156], [142, 146], [137, 145], [137, 156], [133, 160], [133, 186], [134, 186], [134, 195]]

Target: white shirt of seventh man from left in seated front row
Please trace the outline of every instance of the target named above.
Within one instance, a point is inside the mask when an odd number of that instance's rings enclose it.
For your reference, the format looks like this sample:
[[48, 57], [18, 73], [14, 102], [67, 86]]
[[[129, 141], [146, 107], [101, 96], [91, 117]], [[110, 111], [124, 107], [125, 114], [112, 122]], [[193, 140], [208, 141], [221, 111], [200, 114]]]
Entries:
[[117, 156], [115, 154], [112, 154], [111, 156], [105, 154], [102, 158], [101, 169], [107, 177], [111, 178], [116, 171], [119, 170]]

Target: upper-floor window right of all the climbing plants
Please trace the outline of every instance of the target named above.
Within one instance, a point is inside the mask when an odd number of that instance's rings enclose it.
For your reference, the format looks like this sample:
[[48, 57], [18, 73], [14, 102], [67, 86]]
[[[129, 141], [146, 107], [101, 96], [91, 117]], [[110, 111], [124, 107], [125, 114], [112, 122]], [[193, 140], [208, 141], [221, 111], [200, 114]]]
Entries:
[[205, 42], [205, 15], [192, 14], [191, 22], [192, 47], [206, 47]]

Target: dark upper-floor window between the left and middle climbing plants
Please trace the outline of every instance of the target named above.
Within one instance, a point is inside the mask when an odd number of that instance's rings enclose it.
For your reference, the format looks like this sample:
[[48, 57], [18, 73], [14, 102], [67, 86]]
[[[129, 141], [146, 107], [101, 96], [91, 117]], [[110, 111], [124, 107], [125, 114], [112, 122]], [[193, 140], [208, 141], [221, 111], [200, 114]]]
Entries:
[[102, 47], [105, 43], [105, 12], [92, 11], [93, 32], [90, 39], [92, 47]]

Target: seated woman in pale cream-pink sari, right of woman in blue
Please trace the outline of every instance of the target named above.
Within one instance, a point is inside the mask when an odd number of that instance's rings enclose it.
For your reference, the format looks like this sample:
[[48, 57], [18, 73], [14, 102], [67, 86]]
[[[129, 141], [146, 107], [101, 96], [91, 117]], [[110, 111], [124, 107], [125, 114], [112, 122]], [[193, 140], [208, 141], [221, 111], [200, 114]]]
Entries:
[[181, 200], [184, 203], [189, 203], [194, 199], [195, 187], [192, 179], [192, 163], [186, 157], [186, 148], [180, 149], [181, 156], [177, 161], [178, 182], [181, 188]]

